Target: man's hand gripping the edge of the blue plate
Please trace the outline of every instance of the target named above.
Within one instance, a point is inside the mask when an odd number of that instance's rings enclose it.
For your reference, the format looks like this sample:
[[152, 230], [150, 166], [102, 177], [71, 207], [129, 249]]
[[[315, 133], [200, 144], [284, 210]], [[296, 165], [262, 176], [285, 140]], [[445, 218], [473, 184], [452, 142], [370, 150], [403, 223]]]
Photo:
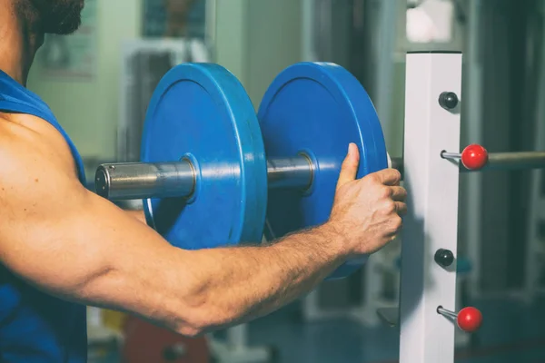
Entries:
[[330, 217], [334, 229], [345, 237], [350, 255], [373, 253], [393, 240], [407, 211], [400, 172], [386, 169], [356, 180], [358, 164], [358, 148], [351, 144]]

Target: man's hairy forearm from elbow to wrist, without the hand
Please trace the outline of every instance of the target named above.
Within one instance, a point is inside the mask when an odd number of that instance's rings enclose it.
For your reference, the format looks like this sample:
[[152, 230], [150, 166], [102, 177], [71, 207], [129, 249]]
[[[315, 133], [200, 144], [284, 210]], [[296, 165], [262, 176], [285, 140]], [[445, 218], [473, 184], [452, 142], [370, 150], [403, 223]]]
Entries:
[[213, 330], [279, 309], [342, 264], [342, 244], [341, 236], [323, 225], [268, 246], [195, 251], [193, 316], [200, 317], [202, 329]]

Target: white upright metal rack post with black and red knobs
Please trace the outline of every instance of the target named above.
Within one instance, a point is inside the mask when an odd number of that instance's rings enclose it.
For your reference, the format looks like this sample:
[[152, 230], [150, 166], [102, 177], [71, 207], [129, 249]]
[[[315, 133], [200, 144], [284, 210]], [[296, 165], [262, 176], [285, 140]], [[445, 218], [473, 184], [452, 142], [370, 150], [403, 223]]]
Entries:
[[460, 105], [441, 108], [443, 92], [461, 100], [461, 54], [407, 54], [404, 185], [409, 192], [401, 249], [401, 363], [454, 361], [456, 261], [435, 263], [436, 250], [457, 253], [459, 167], [441, 159], [460, 150]]

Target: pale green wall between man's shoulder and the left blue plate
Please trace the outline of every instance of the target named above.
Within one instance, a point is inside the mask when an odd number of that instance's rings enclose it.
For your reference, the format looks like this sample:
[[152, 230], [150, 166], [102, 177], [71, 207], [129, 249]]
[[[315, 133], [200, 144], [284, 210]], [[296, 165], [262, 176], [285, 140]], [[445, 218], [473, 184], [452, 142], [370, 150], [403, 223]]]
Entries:
[[28, 87], [49, 104], [84, 158], [112, 159], [121, 75], [121, 44], [140, 34], [140, 2], [96, 0], [96, 72], [89, 80], [49, 78], [33, 67]]

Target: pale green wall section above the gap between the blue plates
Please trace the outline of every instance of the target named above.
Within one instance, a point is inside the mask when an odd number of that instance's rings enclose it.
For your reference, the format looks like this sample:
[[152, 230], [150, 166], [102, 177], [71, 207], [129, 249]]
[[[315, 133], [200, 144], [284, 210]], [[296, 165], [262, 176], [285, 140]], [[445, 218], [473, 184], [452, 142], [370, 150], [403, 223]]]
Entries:
[[274, 77], [301, 61], [300, 0], [218, 0], [216, 59], [235, 74], [254, 106]]

